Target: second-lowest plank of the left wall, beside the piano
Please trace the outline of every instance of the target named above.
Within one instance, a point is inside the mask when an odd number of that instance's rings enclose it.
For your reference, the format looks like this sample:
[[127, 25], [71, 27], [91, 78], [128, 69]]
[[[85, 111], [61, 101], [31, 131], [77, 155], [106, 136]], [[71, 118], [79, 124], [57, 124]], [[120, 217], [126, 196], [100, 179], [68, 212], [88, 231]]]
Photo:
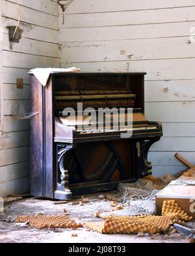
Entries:
[[0, 184], [17, 180], [29, 175], [30, 162], [16, 163], [14, 165], [6, 165], [0, 167]]

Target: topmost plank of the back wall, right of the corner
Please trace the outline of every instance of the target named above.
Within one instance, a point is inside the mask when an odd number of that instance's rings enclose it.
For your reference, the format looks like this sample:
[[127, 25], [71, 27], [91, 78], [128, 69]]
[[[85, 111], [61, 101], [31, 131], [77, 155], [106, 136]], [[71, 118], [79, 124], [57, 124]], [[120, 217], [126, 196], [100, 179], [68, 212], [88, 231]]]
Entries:
[[[64, 1], [65, 2], [65, 1]], [[194, 0], [74, 0], [66, 9], [66, 14], [90, 12], [118, 12], [128, 10], [149, 10], [156, 8], [174, 8], [195, 6]], [[62, 14], [61, 8], [59, 8]]]

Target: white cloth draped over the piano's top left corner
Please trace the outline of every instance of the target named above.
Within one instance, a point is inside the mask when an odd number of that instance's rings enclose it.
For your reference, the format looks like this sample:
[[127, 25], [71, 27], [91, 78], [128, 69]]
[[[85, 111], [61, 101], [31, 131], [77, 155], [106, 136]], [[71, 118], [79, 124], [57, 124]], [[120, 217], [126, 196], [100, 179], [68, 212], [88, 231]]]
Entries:
[[36, 78], [38, 79], [38, 81], [43, 85], [46, 86], [47, 81], [49, 79], [49, 75], [51, 73], [58, 73], [58, 72], [62, 72], [62, 73], [67, 73], [67, 72], [79, 72], [81, 71], [81, 69], [77, 69], [75, 67], [70, 67], [68, 69], [55, 69], [55, 68], [46, 68], [46, 69], [31, 69], [31, 71], [29, 71], [29, 74], [34, 74], [34, 76], [36, 76]]

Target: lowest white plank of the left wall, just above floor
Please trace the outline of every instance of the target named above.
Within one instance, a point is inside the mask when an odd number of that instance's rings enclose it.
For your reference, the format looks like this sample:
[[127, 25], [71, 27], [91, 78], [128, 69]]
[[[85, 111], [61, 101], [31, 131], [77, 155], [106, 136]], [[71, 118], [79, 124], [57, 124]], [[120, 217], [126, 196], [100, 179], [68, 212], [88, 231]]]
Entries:
[[30, 189], [29, 176], [0, 184], [0, 196], [19, 195], [28, 192]]

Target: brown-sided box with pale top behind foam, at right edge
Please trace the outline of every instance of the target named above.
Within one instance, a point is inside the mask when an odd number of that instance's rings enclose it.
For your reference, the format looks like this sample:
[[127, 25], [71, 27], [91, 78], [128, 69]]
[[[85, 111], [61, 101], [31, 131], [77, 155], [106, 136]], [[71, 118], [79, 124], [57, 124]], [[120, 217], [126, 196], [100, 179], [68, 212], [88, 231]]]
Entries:
[[175, 200], [188, 216], [195, 219], [195, 185], [168, 185], [157, 193], [156, 206], [159, 216], [164, 200]]

